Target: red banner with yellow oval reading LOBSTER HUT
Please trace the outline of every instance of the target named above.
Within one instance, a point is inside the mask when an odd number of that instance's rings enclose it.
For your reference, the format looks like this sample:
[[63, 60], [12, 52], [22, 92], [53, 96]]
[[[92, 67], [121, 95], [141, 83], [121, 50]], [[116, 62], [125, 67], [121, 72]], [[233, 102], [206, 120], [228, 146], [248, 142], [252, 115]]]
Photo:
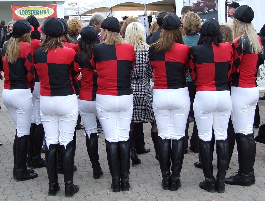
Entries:
[[57, 5], [12, 5], [13, 20], [24, 20], [30, 15], [38, 19], [57, 17]]

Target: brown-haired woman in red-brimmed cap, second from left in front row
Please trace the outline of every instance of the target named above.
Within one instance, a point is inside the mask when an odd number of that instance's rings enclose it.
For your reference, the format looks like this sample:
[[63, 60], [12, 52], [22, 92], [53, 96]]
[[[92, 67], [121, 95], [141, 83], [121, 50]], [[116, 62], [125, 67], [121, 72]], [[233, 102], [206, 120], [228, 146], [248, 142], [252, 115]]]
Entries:
[[61, 36], [62, 22], [47, 18], [40, 30], [46, 35], [41, 48], [33, 55], [39, 75], [40, 114], [45, 130], [45, 162], [49, 179], [48, 195], [60, 190], [57, 176], [58, 146], [65, 182], [65, 197], [78, 192], [73, 184], [74, 145], [73, 136], [78, 116], [78, 102], [73, 83], [81, 79], [76, 52], [65, 47]]

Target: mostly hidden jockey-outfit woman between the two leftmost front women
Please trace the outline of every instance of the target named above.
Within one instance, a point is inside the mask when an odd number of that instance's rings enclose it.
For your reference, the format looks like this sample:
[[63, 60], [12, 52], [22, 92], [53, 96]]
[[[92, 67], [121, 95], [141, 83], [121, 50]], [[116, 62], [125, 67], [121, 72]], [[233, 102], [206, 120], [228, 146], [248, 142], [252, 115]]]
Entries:
[[[34, 15], [30, 15], [26, 18], [26, 21], [29, 22], [30, 25], [34, 27], [34, 31], [30, 34], [31, 38], [31, 53], [34, 54], [35, 50], [37, 50], [41, 44], [39, 40], [41, 38], [41, 33], [38, 31], [39, 21], [37, 17]], [[29, 147], [28, 147], [28, 160], [27, 166], [31, 168], [41, 168], [46, 167], [45, 160], [41, 158], [41, 150], [44, 138], [44, 129], [41, 122], [41, 115], [39, 113], [39, 76], [35, 71], [35, 87], [32, 93], [33, 96], [33, 109], [32, 109], [32, 119], [30, 125], [30, 134], [29, 134]]]

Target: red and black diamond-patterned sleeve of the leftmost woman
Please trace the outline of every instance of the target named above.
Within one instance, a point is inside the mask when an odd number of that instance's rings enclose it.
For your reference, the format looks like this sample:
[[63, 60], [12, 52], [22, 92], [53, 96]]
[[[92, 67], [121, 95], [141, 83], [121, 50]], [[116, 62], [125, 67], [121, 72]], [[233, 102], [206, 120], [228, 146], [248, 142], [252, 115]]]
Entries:
[[31, 54], [31, 48], [29, 43], [22, 43], [20, 46], [21, 58], [23, 60], [24, 66], [26, 68], [26, 76], [29, 83], [29, 87], [33, 91], [35, 84], [35, 74], [34, 74], [34, 62]]

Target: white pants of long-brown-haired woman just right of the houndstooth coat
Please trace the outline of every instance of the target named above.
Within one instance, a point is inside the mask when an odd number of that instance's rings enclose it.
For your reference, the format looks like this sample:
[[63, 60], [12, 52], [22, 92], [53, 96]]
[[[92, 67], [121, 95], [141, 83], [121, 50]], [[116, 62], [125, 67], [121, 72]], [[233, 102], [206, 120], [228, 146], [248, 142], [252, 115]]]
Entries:
[[188, 87], [154, 89], [153, 110], [158, 136], [163, 140], [179, 140], [185, 136], [190, 106]]

